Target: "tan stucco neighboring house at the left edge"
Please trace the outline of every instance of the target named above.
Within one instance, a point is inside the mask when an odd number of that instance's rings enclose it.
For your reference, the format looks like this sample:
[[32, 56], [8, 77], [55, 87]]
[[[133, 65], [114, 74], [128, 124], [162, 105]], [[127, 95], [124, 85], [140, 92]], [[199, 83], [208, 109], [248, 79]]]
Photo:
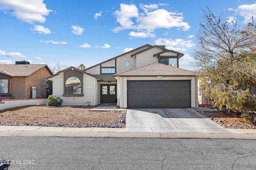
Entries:
[[46, 97], [46, 77], [51, 75], [46, 64], [18, 61], [15, 65], [0, 65], [0, 100], [32, 98], [32, 87], [36, 98]]

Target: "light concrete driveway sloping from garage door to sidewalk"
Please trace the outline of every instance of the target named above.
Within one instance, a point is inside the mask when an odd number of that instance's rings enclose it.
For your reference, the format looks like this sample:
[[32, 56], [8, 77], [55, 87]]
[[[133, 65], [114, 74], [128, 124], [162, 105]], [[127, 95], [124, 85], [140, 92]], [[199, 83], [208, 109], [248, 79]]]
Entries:
[[118, 132], [241, 133], [225, 129], [194, 109], [127, 109], [126, 128]]

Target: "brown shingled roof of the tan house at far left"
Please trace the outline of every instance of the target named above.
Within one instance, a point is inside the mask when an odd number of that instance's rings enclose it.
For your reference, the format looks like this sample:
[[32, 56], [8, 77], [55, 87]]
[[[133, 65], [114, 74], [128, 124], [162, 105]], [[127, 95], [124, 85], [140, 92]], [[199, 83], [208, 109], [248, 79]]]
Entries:
[[46, 67], [52, 74], [47, 64], [4, 64], [0, 65], [0, 71], [8, 76], [27, 77], [43, 67]]

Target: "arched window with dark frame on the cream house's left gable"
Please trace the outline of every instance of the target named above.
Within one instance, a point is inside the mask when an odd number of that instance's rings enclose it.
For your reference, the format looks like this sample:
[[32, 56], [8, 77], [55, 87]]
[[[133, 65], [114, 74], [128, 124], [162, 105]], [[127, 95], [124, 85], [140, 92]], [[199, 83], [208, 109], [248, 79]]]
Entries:
[[82, 94], [81, 81], [77, 77], [70, 77], [65, 82], [65, 94]]

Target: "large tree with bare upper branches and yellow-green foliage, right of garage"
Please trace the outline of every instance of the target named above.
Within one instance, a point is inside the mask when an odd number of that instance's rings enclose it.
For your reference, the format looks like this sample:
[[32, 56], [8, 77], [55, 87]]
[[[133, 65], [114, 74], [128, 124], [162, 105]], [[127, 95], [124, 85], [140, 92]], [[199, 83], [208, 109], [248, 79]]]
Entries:
[[254, 18], [242, 29], [237, 20], [222, 21], [207, 7], [197, 35], [196, 59], [200, 85], [219, 107], [256, 109], [256, 25]]

